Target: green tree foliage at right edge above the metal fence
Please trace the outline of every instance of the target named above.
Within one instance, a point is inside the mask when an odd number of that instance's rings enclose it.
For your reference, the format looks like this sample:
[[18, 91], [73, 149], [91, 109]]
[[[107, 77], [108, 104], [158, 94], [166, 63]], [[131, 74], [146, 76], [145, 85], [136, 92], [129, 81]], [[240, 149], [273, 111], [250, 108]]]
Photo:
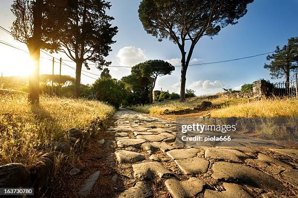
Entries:
[[288, 44], [281, 49], [276, 47], [275, 53], [267, 56], [267, 60], [272, 60], [269, 65], [264, 64], [264, 68], [270, 70], [272, 79], [285, 76], [289, 82], [290, 73], [298, 71], [298, 37], [292, 37]]

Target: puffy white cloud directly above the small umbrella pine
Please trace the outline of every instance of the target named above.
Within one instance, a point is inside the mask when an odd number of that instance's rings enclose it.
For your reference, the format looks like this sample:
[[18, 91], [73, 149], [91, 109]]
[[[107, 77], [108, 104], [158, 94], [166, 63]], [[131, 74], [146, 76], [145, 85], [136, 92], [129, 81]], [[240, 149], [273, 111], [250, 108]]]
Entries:
[[120, 66], [135, 66], [148, 60], [143, 49], [132, 46], [121, 48], [117, 53], [117, 61]]

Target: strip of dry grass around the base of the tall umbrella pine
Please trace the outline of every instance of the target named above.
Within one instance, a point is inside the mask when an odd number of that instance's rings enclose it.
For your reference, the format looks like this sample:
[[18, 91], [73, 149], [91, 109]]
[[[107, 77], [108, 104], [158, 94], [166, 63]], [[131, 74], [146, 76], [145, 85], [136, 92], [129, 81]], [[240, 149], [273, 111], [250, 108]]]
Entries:
[[170, 102], [157, 102], [150, 105], [145, 106], [133, 106], [130, 109], [142, 113], [149, 113], [153, 115], [160, 115], [162, 114], [166, 109], [171, 111], [177, 111], [177, 110], [183, 110], [183, 109], [192, 109], [193, 107], [197, 107], [202, 103], [202, 101], [211, 101], [213, 104], [213, 107], [215, 108], [221, 108], [222, 106], [229, 106], [234, 105], [238, 103], [242, 103], [247, 101], [247, 99], [226, 99], [226, 98], [216, 98], [216, 99], [204, 99], [200, 98], [198, 100], [192, 100], [192, 101], [186, 101], [186, 102], [179, 102], [179, 101], [170, 101]]

